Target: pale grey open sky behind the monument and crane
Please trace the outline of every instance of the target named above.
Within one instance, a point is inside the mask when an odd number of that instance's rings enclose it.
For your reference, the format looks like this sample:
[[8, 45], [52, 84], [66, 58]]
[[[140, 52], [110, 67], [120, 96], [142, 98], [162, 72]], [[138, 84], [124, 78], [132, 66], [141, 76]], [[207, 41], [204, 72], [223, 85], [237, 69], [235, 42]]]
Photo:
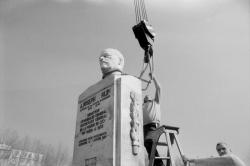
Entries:
[[[156, 31], [162, 124], [180, 127], [190, 157], [225, 141], [250, 164], [249, 0], [145, 0]], [[117, 48], [139, 75], [133, 1], [0, 1], [0, 125], [73, 151], [77, 99], [101, 79], [98, 57]], [[153, 87], [150, 87], [153, 92]]]

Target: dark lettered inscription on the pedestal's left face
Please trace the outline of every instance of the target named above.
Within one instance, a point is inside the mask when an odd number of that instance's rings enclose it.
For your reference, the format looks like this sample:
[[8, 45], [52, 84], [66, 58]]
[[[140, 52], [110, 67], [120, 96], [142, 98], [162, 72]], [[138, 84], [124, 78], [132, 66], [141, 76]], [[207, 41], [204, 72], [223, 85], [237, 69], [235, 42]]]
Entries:
[[80, 119], [80, 135], [82, 137], [78, 146], [87, 145], [107, 138], [104, 130], [108, 120], [108, 99], [111, 98], [111, 87], [107, 87], [96, 94], [79, 102], [79, 110], [82, 113]]

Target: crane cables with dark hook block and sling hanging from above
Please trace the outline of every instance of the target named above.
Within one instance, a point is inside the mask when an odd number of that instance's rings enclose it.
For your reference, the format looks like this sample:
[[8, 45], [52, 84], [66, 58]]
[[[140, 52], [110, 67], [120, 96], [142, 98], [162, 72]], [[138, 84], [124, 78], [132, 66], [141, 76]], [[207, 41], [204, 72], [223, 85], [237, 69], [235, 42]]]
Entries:
[[135, 16], [136, 16], [136, 25], [133, 26], [133, 31], [135, 37], [137, 38], [141, 48], [145, 51], [144, 60], [142, 65], [142, 70], [139, 76], [139, 79], [146, 82], [146, 90], [152, 80], [142, 79], [143, 74], [149, 68], [149, 73], [153, 75], [154, 64], [153, 64], [153, 41], [155, 37], [155, 32], [153, 27], [148, 23], [148, 16], [146, 12], [144, 0], [134, 0], [135, 6]]

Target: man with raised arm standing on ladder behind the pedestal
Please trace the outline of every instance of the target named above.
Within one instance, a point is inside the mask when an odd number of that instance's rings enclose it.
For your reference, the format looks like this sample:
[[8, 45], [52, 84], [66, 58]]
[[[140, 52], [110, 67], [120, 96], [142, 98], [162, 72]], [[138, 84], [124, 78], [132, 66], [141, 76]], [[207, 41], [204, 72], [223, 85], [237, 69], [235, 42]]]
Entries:
[[[161, 87], [156, 78], [150, 73], [155, 85], [155, 98], [150, 99], [147, 95], [144, 97], [143, 103], [143, 130], [144, 130], [144, 146], [148, 152], [148, 156], [151, 154], [152, 140], [147, 139], [147, 135], [150, 135], [160, 126], [160, 94]], [[155, 156], [159, 156], [159, 153], [155, 152]], [[155, 160], [154, 166], [164, 166], [162, 160]]]

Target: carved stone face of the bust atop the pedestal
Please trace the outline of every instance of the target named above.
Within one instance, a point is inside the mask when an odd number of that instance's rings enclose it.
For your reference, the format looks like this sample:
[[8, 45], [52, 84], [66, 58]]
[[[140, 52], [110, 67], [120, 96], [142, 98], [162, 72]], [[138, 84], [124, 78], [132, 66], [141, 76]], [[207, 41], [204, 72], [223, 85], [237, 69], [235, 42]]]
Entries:
[[99, 62], [103, 74], [119, 69], [120, 65], [119, 57], [108, 52], [103, 52], [99, 58]]

